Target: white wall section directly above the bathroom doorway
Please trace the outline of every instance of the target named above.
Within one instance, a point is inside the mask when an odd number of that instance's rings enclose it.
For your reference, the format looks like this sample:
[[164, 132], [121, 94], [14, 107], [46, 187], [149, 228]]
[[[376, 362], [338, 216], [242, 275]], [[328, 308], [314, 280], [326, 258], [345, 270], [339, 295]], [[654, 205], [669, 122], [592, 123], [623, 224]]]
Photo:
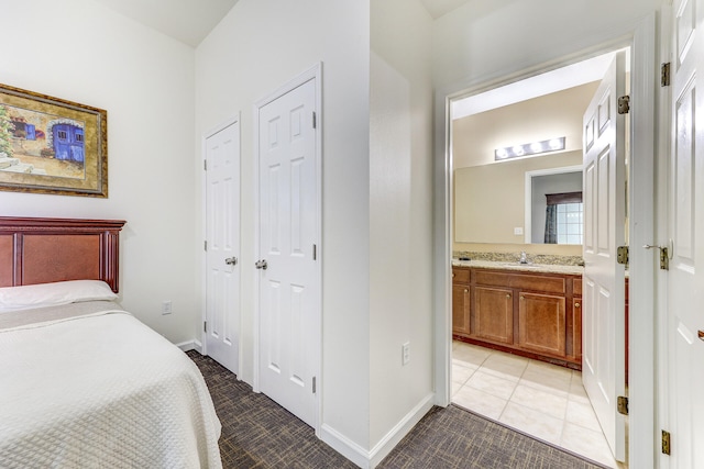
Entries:
[[[619, 35], [660, 0], [472, 0], [433, 23], [433, 85], [461, 89]], [[604, 37], [604, 38], [601, 38]]]

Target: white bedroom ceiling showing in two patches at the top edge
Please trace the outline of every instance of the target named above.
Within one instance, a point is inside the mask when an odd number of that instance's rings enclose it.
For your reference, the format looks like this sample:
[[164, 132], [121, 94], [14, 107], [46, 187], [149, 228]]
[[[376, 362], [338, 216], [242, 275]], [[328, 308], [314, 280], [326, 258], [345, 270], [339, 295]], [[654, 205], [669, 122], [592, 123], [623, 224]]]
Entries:
[[[191, 47], [218, 25], [238, 0], [94, 0]], [[471, 0], [420, 0], [433, 19]]]

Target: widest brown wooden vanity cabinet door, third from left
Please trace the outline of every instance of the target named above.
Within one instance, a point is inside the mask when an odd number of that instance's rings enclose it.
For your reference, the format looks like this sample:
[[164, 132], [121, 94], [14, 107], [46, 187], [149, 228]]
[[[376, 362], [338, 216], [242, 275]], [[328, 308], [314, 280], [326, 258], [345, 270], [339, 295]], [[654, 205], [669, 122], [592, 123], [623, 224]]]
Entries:
[[518, 346], [558, 357], [565, 356], [564, 297], [520, 292]]

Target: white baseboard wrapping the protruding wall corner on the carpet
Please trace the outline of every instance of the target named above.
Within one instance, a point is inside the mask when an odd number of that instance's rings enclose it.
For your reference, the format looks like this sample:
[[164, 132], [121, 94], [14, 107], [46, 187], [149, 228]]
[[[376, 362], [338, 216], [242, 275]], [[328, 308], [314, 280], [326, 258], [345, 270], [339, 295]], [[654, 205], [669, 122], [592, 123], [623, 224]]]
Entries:
[[320, 439], [362, 469], [373, 469], [432, 409], [433, 399], [432, 393], [428, 394], [369, 451], [326, 424], [320, 427]]

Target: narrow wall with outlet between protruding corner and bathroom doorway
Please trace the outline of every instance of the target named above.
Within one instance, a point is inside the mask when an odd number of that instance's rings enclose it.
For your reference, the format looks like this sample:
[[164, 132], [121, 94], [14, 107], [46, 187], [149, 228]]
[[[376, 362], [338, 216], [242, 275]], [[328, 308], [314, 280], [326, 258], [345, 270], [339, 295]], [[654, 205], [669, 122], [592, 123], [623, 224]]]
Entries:
[[[372, 1], [371, 447], [432, 400], [432, 20]], [[402, 365], [402, 345], [410, 361]], [[422, 411], [420, 414], [422, 415]], [[381, 450], [381, 449], [380, 449]]]

